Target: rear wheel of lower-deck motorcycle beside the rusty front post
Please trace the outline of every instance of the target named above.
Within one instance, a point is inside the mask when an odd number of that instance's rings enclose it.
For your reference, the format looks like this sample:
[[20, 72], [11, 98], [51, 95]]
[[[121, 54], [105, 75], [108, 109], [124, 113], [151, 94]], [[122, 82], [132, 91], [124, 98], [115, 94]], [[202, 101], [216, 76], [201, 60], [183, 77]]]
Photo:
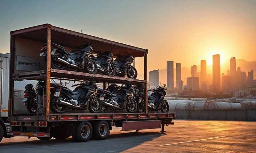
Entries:
[[50, 108], [51, 108], [52, 113], [65, 113], [68, 110], [67, 106], [57, 103], [59, 98], [64, 99], [64, 98], [66, 98], [66, 96], [62, 95], [61, 93], [60, 93], [60, 97], [55, 97], [54, 94], [51, 95]]

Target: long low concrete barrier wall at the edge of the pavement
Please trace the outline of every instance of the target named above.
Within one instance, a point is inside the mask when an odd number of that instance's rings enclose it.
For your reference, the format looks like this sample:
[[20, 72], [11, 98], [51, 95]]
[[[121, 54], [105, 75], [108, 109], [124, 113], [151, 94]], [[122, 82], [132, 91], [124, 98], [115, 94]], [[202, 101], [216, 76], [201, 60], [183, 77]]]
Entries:
[[256, 110], [169, 110], [176, 119], [256, 120]]

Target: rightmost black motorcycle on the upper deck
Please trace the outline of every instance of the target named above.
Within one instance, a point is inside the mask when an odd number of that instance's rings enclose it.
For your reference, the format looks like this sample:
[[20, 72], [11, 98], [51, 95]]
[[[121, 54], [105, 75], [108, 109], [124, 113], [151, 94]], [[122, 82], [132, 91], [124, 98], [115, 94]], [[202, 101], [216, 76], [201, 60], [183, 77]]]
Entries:
[[137, 70], [131, 65], [134, 58], [132, 55], [118, 56], [114, 61], [117, 76], [125, 76], [136, 79], [138, 76]]

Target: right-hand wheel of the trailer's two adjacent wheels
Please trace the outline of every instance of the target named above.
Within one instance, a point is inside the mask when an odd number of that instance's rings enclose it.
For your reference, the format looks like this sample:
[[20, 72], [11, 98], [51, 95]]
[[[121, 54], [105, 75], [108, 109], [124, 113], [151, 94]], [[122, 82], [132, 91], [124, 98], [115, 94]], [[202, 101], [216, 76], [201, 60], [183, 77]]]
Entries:
[[105, 120], [96, 122], [93, 129], [93, 137], [97, 140], [105, 140], [109, 135], [108, 122]]

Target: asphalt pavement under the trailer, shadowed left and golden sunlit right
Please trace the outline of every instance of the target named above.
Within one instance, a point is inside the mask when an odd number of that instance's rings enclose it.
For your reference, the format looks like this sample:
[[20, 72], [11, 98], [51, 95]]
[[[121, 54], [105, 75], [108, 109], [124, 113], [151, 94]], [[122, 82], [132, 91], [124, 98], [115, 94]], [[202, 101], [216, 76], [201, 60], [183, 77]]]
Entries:
[[0, 152], [255, 152], [256, 121], [173, 122], [174, 125], [165, 127], [165, 134], [160, 134], [160, 129], [121, 132], [121, 128], [113, 127], [108, 139], [84, 143], [74, 142], [71, 137], [46, 142], [35, 137], [4, 138], [0, 144]]

